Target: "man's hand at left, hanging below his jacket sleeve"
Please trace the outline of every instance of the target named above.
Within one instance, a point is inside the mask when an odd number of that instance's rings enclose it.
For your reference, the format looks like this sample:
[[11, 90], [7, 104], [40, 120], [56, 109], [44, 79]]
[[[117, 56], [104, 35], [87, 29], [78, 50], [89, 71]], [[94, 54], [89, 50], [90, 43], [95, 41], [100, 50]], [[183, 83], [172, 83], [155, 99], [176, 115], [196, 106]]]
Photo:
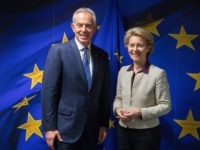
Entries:
[[45, 139], [51, 150], [55, 150], [55, 147], [54, 147], [55, 140], [62, 141], [62, 138], [58, 130], [47, 131], [45, 134]]

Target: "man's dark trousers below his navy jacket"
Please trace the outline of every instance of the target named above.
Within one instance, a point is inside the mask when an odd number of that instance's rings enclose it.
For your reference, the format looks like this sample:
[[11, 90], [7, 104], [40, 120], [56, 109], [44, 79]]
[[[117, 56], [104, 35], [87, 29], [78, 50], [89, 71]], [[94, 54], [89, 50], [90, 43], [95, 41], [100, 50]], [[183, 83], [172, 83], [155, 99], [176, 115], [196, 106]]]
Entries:
[[55, 143], [56, 150], [96, 150], [97, 143], [92, 140], [89, 141], [84, 131], [80, 139], [75, 143], [64, 143], [57, 141]]

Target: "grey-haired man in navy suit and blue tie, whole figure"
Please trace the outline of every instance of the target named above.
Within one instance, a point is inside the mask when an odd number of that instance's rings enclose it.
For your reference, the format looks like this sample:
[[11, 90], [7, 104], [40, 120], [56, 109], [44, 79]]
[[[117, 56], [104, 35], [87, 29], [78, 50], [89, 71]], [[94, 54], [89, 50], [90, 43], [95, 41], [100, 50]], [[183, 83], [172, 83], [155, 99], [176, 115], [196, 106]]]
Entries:
[[108, 55], [91, 43], [96, 31], [91, 9], [76, 10], [71, 27], [75, 37], [51, 47], [46, 60], [42, 125], [51, 149], [95, 150], [105, 139], [109, 122]]

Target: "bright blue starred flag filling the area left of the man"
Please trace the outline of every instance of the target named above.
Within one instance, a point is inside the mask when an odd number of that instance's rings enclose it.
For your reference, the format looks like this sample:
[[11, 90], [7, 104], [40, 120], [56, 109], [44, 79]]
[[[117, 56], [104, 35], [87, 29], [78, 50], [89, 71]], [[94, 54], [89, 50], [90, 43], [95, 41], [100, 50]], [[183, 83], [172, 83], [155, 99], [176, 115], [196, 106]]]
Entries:
[[[0, 149], [49, 149], [41, 126], [40, 91], [48, 50], [73, 37], [73, 12], [106, 1], [13, 1], [0, 6]], [[10, 2], [11, 3], [11, 2]], [[101, 22], [101, 15], [98, 21]]]

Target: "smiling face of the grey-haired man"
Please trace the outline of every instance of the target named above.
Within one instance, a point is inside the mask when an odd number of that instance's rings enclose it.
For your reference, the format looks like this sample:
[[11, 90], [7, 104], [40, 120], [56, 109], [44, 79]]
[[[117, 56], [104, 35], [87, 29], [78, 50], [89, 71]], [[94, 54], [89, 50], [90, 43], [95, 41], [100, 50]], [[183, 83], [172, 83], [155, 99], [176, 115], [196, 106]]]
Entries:
[[96, 24], [93, 22], [92, 15], [87, 12], [78, 13], [75, 16], [75, 22], [71, 26], [77, 40], [84, 46], [87, 46], [96, 31]]

